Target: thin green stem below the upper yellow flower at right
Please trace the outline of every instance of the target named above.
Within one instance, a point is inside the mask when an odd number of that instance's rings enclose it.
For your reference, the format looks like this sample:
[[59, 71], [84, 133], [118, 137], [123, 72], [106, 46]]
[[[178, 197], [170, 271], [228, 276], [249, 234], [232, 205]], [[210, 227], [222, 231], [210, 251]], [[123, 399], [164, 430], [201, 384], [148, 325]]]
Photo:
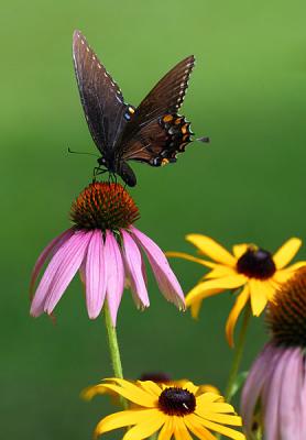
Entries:
[[226, 402], [228, 404], [230, 403], [230, 400], [232, 398], [232, 387], [236, 382], [237, 374], [239, 372], [239, 367], [240, 367], [240, 363], [241, 363], [241, 359], [242, 359], [242, 354], [243, 354], [243, 349], [244, 349], [244, 344], [245, 344], [245, 337], [247, 337], [247, 330], [248, 330], [250, 317], [251, 317], [251, 305], [250, 305], [250, 302], [248, 302], [248, 305], [244, 309], [243, 321], [242, 321], [242, 326], [241, 326], [240, 333], [239, 333], [238, 344], [234, 349], [234, 356], [232, 360], [228, 385], [226, 388], [225, 397], [226, 397]]

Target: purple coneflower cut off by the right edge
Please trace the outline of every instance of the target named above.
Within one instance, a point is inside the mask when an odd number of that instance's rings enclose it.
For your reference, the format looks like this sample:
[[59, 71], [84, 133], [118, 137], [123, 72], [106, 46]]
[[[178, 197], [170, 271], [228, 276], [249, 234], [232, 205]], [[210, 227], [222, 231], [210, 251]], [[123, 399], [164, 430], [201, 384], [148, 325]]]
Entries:
[[306, 439], [306, 268], [276, 292], [267, 308], [272, 339], [255, 360], [242, 392], [248, 439]]

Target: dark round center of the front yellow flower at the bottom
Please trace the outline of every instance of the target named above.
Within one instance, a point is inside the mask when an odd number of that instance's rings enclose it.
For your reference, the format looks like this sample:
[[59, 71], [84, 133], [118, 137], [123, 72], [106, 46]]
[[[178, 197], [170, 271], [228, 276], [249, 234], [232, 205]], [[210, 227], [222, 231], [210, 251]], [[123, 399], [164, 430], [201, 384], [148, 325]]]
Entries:
[[159, 407], [168, 416], [185, 416], [196, 409], [196, 397], [187, 389], [170, 387], [160, 395]]

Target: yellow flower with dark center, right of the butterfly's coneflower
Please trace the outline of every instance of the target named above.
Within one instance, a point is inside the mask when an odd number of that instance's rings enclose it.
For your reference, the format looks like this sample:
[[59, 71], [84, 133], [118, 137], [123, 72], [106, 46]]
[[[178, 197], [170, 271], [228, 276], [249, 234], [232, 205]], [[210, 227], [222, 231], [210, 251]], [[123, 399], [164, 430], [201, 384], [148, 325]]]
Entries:
[[204, 298], [225, 290], [242, 288], [226, 326], [231, 346], [236, 322], [248, 301], [251, 301], [253, 315], [261, 315], [280, 285], [285, 283], [297, 268], [306, 265], [306, 262], [299, 262], [285, 267], [302, 245], [302, 241], [296, 238], [286, 241], [274, 255], [253, 244], [236, 244], [231, 254], [209, 237], [200, 234], [188, 234], [186, 240], [193, 243], [200, 254], [212, 260], [207, 261], [181, 252], [167, 252], [167, 256], [178, 256], [211, 270], [186, 297], [186, 305], [192, 308], [194, 318], [197, 318]]

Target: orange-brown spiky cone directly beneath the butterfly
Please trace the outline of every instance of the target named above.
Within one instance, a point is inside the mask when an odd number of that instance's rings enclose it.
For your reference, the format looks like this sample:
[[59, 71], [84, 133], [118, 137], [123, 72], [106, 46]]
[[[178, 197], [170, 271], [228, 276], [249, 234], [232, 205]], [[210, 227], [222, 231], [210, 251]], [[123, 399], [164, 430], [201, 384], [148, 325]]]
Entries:
[[73, 202], [70, 218], [80, 230], [120, 230], [140, 218], [139, 209], [120, 184], [95, 182]]

